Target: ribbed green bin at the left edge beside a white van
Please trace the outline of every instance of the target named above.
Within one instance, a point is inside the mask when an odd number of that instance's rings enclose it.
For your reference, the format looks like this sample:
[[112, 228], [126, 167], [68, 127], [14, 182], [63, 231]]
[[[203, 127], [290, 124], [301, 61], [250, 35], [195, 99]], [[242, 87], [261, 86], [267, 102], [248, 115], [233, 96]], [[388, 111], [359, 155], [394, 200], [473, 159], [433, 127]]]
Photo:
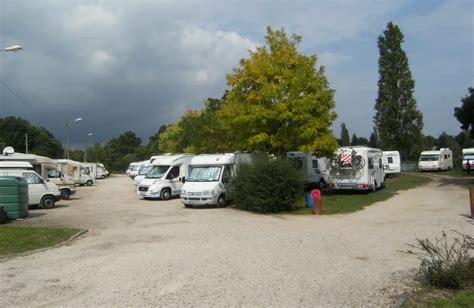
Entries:
[[28, 183], [22, 177], [0, 176], [0, 207], [9, 219], [28, 216]]

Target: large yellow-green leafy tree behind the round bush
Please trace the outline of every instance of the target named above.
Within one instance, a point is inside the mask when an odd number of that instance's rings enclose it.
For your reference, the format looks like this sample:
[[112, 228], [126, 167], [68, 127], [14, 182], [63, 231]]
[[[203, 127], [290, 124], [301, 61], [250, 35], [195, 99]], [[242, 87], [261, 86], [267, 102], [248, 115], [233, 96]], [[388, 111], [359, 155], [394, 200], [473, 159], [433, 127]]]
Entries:
[[219, 112], [226, 150], [332, 154], [334, 90], [324, 67], [316, 67], [316, 55], [298, 52], [296, 34], [288, 38], [283, 29], [268, 27], [265, 40], [227, 76], [229, 90]]

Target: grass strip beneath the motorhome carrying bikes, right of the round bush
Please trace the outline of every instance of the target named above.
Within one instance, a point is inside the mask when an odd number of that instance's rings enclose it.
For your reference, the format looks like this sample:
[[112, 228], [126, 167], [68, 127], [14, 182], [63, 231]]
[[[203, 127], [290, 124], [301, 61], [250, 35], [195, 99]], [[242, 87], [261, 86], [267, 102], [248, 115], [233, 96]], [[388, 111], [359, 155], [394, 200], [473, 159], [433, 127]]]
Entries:
[[[376, 192], [356, 191], [323, 191], [323, 213], [342, 214], [362, 210], [364, 207], [394, 196], [398, 191], [415, 188], [430, 182], [431, 179], [422, 175], [403, 173], [398, 177], [387, 178], [386, 187]], [[300, 201], [301, 207], [292, 214], [312, 214], [313, 209], [305, 207], [305, 200]]]

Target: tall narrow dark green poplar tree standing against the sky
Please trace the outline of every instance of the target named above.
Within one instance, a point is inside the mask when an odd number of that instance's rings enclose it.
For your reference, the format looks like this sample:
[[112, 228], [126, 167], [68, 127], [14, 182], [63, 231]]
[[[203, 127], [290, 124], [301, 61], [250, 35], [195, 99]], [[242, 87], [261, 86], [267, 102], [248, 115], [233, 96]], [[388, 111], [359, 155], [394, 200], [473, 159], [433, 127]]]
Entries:
[[404, 158], [417, 156], [422, 141], [423, 115], [413, 96], [415, 81], [401, 44], [400, 28], [389, 22], [378, 38], [379, 81], [374, 123], [383, 149], [400, 151]]

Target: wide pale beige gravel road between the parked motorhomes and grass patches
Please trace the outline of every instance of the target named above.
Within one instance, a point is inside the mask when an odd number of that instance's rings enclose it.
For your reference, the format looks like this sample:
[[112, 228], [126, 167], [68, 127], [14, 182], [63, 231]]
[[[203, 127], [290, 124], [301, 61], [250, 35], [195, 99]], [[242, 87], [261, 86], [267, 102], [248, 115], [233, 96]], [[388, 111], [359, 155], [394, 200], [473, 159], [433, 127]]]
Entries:
[[89, 229], [0, 259], [0, 306], [386, 306], [407, 289], [416, 238], [474, 235], [465, 187], [436, 180], [334, 216], [186, 209], [139, 200], [125, 176], [79, 187], [21, 225]]

